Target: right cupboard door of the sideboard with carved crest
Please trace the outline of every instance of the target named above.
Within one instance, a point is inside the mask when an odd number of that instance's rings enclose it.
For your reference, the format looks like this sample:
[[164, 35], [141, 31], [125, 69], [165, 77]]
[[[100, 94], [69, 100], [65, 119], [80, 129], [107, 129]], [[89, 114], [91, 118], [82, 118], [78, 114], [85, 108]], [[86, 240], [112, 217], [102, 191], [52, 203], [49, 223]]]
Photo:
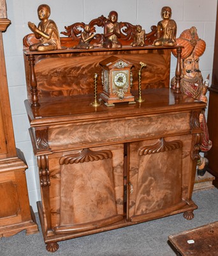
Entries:
[[182, 147], [173, 138], [130, 143], [129, 220], [158, 218], [184, 204]]

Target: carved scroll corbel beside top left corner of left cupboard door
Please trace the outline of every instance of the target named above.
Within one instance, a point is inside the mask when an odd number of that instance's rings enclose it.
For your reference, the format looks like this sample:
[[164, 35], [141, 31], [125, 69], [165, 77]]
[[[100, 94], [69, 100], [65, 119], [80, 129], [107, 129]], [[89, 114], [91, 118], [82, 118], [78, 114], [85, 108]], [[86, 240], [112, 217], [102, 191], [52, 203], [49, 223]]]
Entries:
[[40, 185], [41, 187], [50, 186], [49, 169], [48, 169], [48, 156], [37, 157], [39, 174], [40, 174]]

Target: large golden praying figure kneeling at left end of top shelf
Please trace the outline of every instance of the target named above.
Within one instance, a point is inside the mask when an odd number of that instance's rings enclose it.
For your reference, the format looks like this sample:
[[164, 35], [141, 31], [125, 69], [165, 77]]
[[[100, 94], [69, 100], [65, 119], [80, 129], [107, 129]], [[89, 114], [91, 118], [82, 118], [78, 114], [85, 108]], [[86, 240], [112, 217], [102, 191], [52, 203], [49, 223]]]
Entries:
[[41, 4], [38, 7], [38, 17], [41, 20], [38, 28], [32, 22], [28, 22], [28, 26], [33, 31], [35, 37], [40, 43], [30, 45], [30, 51], [51, 51], [61, 49], [61, 41], [59, 31], [53, 20], [49, 20], [50, 7], [47, 4]]

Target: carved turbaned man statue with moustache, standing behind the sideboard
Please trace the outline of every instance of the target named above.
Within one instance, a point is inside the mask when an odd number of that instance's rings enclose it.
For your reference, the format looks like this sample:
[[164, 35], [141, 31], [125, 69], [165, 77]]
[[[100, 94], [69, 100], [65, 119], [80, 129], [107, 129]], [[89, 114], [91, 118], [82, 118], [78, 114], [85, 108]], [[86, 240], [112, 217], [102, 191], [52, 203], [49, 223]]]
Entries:
[[[180, 90], [189, 97], [201, 100], [207, 103], [208, 77], [203, 83], [203, 77], [199, 69], [199, 58], [205, 52], [205, 41], [200, 39], [197, 29], [192, 27], [183, 31], [177, 38], [177, 45], [184, 46], [181, 53], [182, 77], [180, 81]], [[173, 55], [177, 56], [176, 49], [172, 50]], [[175, 77], [171, 79], [171, 87], [175, 88]], [[207, 122], [205, 113], [202, 111], [199, 116], [200, 127], [203, 131], [203, 140], [201, 142], [201, 152], [207, 152], [212, 147], [212, 141], [209, 140]], [[203, 176], [207, 170], [208, 159], [200, 157], [198, 161], [198, 175]]]

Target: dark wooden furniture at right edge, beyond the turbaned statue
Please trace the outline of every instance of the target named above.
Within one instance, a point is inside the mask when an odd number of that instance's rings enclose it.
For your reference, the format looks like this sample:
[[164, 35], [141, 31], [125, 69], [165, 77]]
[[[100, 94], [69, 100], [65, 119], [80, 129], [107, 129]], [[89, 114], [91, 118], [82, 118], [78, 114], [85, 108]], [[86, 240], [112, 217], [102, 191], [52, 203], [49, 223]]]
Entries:
[[215, 45], [214, 45], [214, 65], [213, 65], [213, 74], [212, 74], [212, 84], [210, 87], [210, 99], [208, 104], [208, 118], [207, 125], [208, 131], [210, 134], [210, 140], [212, 140], [213, 147], [208, 151], [207, 158], [209, 160], [208, 170], [215, 177], [215, 186], [218, 186], [218, 163], [217, 163], [217, 154], [218, 154], [218, 127], [217, 127], [217, 118], [218, 118], [218, 18], [215, 31]]

